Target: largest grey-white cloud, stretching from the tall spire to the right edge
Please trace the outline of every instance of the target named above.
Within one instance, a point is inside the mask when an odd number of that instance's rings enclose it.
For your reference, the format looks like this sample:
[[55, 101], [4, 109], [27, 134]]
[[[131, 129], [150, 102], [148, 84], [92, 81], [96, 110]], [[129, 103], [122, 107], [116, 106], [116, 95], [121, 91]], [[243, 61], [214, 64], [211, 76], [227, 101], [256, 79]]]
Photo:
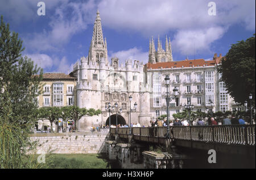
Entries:
[[175, 52], [184, 55], [210, 51], [229, 26], [244, 24], [255, 30], [254, 0], [217, 0], [216, 16], [208, 15], [210, 1], [106, 0], [98, 5], [102, 24], [118, 31], [137, 31], [143, 36], [164, 36], [175, 32]]

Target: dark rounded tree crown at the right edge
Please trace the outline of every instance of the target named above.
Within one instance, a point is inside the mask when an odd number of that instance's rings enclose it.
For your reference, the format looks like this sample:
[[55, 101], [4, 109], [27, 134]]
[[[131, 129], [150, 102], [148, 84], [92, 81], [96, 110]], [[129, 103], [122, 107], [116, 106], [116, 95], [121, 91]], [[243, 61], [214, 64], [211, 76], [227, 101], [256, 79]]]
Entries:
[[234, 101], [243, 104], [249, 101], [251, 93], [252, 104], [255, 104], [255, 34], [246, 41], [232, 44], [218, 72], [222, 73], [221, 80]]

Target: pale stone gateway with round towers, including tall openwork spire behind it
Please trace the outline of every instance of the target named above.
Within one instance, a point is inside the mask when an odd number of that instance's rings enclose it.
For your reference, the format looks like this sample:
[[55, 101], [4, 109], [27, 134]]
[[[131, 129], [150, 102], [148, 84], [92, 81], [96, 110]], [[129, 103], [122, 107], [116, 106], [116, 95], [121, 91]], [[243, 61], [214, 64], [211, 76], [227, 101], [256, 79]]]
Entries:
[[138, 108], [131, 113], [131, 123], [148, 124], [151, 119], [150, 92], [145, 82], [143, 63], [126, 60], [123, 65], [119, 63], [117, 57], [113, 57], [109, 62], [107, 52], [106, 39], [103, 41], [100, 13], [97, 11], [89, 55], [81, 57], [80, 62], [76, 62], [72, 74], [77, 78], [77, 106], [100, 109], [102, 114], [101, 117], [82, 117], [79, 120], [79, 129], [106, 124], [109, 112], [105, 110], [105, 106], [109, 102], [112, 106], [118, 103], [117, 109], [110, 112], [111, 124], [115, 124], [115, 114], [120, 108], [122, 112], [119, 115], [125, 119], [125, 122], [120, 123], [118, 118], [118, 124], [129, 124], [130, 103], [131, 108], [134, 109], [135, 102]]

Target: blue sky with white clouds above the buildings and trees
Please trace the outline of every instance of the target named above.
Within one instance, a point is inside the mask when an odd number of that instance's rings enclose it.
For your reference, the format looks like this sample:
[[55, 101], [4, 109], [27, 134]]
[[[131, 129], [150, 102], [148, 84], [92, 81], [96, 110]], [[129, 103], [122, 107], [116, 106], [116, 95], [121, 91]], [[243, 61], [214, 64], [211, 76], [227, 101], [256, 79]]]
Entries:
[[[38, 15], [39, 2], [45, 15]], [[171, 38], [174, 61], [212, 60], [255, 34], [255, 0], [1, 0], [0, 15], [23, 40], [23, 56], [46, 72], [72, 72], [88, 56], [97, 9], [108, 56], [148, 61], [149, 40], [165, 47]], [[43, 11], [41, 11], [43, 12]]]

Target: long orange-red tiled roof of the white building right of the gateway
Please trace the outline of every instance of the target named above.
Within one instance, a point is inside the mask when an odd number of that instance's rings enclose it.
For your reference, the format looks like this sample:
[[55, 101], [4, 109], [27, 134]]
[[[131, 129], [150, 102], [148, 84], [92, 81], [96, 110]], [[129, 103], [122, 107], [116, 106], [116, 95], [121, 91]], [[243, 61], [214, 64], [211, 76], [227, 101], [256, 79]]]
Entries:
[[[221, 57], [217, 57], [216, 62], [220, 62]], [[183, 61], [171, 61], [171, 62], [157, 62], [155, 64], [151, 64], [150, 62], [147, 63], [147, 69], [167, 69], [167, 68], [189, 68], [192, 67], [198, 67], [198, 66], [214, 66], [215, 62], [214, 60], [211, 61], [205, 61], [204, 59], [197, 59], [197, 60], [183, 60]]]

